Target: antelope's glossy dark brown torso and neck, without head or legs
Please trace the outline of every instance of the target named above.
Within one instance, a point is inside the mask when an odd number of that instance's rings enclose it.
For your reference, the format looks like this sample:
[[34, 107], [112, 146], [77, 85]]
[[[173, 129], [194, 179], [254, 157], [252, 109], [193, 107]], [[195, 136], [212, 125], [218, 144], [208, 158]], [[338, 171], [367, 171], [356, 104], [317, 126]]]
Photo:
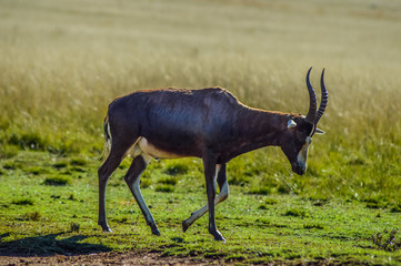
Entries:
[[[114, 121], [122, 116], [124, 121]], [[279, 145], [277, 135], [295, 116], [250, 109], [227, 90], [210, 88], [136, 92], [110, 104], [108, 121], [111, 135], [131, 142], [143, 136], [183, 157], [213, 153], [222, 164], [242, 153]]]

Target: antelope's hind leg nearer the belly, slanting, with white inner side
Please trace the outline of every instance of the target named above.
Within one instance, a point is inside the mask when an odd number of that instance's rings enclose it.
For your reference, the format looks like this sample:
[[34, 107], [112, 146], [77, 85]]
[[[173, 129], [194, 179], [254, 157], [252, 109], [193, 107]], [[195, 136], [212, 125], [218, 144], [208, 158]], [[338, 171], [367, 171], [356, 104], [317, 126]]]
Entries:
[[150, 162], [150, 157], [142, 154], [132, 160], [131, 166], [126, 174], [127, 185], [130, 187], [133, 197], [136, 198], [139, 207], [142, 211], [143, 217], [147, 221], [147, 224], [150, 226], [153, 235], [160, 235], [158, 226], [154, 223], [154, 218], [149, 211], [147, 203], [143, 200], [141, 190], [140, 190], [140, 177], [146, 167]]

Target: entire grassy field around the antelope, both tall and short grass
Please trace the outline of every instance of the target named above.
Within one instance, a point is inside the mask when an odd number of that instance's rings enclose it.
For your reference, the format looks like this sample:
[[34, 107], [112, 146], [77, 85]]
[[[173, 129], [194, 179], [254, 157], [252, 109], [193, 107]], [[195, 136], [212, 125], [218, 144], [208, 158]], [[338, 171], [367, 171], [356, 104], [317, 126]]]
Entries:
[[[400, 263], [384, 232], [401, 211], [400, 11], [390, 0], [1, 0], [1, 254], [78, 246], [243, 263]], [[228, 244], [211, 241], [205, 218], [181, 233], [205, 202], [201, 164], [190, 158], [144, 173], [162, 237], [150, 235], [121, 180], [128, 161], [108, 190], [116, 233], [100, 233], [97, 158], [113, 98], [220, 85], [251, 106], [305, 112], [311, 65], [317, 88], [327, 69], [327, 134], [314, 137], [304, 176], [278, 149], [229, 164], [231, 196], [217, 207]], [[378, 233], [384, 237], [373, 242]]]

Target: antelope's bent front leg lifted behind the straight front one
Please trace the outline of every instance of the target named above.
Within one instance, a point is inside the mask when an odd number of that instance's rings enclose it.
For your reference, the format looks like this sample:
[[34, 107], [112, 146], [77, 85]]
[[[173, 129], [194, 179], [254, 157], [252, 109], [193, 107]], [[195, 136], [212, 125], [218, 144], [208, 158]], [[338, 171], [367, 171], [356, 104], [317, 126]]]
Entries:
[[[225, 176], [225, 164], [222, 164], [221, 166], [218, 164], [215, 168], [220, 193], [214, 200], [214, 205], [218, 205], [219, 203], [225, 201], [229, 197], [229, 184]], [[188, 227], [190, 227], [197, 219], [202, 217], [208, 212], [208, 209], [209, 206], [208, 204], [205, 204], [197, 212], [193, 212], [191, 214], [191, 217], [182, 222], [182, 231], [186, 232]]]

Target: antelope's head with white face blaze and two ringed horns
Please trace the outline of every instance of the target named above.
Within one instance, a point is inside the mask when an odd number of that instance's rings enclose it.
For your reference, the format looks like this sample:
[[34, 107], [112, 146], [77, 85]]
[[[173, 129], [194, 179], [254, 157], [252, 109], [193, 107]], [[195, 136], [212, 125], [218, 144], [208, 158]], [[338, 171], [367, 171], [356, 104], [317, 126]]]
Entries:
[[318, 110], [317, 95], [307, 74], [307, 88], [309, 92], [309, 111], [307, 116], [290, 115], [287, 121], [287, 127], [280, 137], [280, 146], [284, 152], [287, 158], [291, 163], [292, 172], [303, 175], [307, 170], [308, 149], [312, 142], [314, 134], [323, 134], [324, 132], [318, 129], [318, 122], [323, 115], [328, 104], [328, 92], [324, 85], [324, 69], [320, 79], [321, 101]]

